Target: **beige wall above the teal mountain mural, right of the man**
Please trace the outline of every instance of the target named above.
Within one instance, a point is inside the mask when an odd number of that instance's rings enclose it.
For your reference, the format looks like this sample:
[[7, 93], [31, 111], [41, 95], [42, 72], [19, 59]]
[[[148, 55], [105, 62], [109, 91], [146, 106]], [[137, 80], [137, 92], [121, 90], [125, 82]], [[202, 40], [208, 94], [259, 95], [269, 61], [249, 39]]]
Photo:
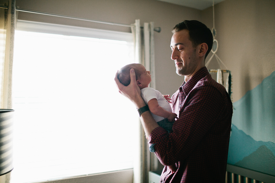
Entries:
[[[275, 1], [225, 0], [214, 8], [217, 55], [232, 71], [235, 102], [275, 70]], [[212, 16], [212, 7], [202, 11], [209, 27]]]

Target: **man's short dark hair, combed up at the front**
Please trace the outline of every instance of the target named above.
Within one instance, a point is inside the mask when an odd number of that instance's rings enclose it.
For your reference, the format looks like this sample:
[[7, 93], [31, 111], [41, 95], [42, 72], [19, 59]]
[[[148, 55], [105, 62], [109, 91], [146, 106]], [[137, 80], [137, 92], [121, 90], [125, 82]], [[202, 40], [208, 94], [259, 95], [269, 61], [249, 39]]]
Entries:
[[201, 43], [207, 44], [208, 50], [205, 54], [206, 58], [213, 45], [213, 35], [211, 30], [197, 20], [184, 20], [173, 27], [172, 33], [176, 33], [183, 29], [189, 31], [189, 39], [192, 42], [193, 47], [196, 47]]

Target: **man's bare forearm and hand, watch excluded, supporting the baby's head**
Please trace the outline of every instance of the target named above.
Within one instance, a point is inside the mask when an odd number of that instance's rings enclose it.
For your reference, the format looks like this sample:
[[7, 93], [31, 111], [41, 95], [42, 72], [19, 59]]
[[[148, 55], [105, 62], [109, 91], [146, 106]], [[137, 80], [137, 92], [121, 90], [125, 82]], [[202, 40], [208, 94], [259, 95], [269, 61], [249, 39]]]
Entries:
[[[121, 93], [122, 95], [127, 97], [129, 100], [131, 100], [131, 102], [134, 103], [134, 105], [136, 106], [137, 109], [142, 108], [142, 107], [146, 106], [146, 104], [144, 103], [144, 101], [140, 95], [140, 88], [137, 86], [137, 82], [135, 80], [134, 69], [130, 70], [130, 78], [131, 78], [130, 84], [128, 86], [124, 86], [117, 79], [117, 73], [116, 73], [115, 83], [117, 85], [119, 93]], [[144, 129], [144, 132], [146, 134], [146, 138], [148, 138], [149, 135], [151, 134], [151, 132], [154, 129], [158, 128], [159, 125], [156, 123], [156, 121], [152, 117], [150, 111], [146, 111], [146, 112], [142, 113], [140, 119], [141, 119], [141, 123], [142, 123], [143, 129]]]

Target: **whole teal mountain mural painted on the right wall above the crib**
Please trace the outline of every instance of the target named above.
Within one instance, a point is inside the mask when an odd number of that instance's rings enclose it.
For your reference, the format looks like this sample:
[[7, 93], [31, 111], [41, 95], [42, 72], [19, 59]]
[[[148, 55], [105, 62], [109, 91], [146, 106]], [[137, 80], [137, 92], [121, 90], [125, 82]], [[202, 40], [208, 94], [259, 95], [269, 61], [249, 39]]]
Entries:
[[233, 108], [227, 162], [275, 176], [275, 71]]

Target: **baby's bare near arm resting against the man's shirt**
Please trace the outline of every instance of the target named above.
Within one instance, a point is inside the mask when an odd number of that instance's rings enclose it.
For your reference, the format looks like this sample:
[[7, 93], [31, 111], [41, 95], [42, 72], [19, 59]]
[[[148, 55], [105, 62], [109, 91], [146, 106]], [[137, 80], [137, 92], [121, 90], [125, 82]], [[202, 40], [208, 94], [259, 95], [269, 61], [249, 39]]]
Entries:
[[162, 107], [160, 107], [158, 105], [158, 100], [156, 98], [149, 100], [148, 107], [153, 114], [161, 116], [163, 118], [167, 118], [168, 121], [174, 121], [175, 118], [178, 119], [176, 113], [168, 112], [164, 110]]

